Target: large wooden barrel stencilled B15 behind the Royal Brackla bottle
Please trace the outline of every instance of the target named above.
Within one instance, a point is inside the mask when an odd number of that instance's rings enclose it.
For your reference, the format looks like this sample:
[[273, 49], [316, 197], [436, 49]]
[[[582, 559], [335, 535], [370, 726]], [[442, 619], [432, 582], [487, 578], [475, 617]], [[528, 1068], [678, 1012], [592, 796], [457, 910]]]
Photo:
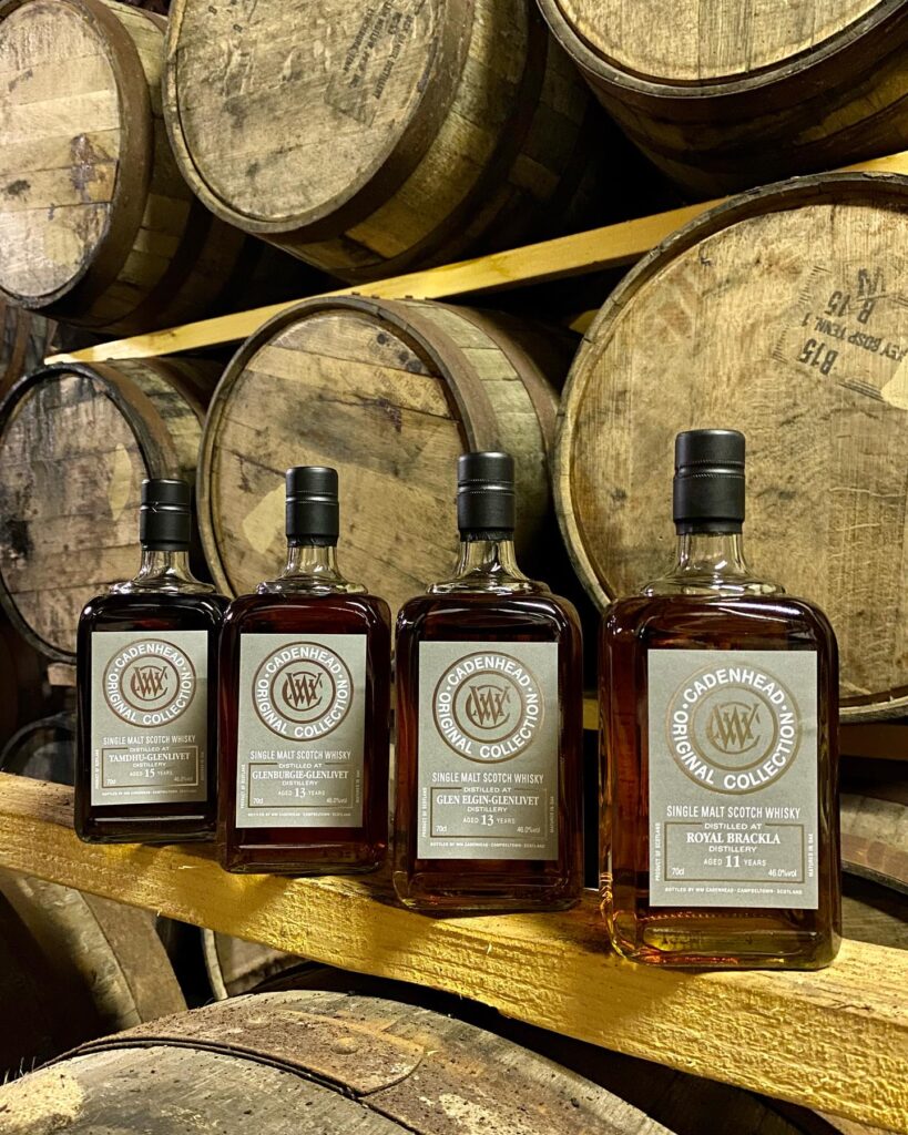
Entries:
[[829, 614], [847, 718], [908, 707], [908, 182], [742, 194], [642, 260], [565, 389], [557, 508], [604, 606], [674, 547], [674, 435], [748, 443], [755, 569]]

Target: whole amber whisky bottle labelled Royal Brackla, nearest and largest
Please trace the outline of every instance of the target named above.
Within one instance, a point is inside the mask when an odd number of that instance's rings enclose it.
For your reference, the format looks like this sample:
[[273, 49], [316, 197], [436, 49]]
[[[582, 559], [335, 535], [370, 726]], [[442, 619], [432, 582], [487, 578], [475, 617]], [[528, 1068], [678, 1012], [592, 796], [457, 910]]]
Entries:
[[615, 949], [818, 968], [839, 948], [838, 654], [741, 550], [745, 439], [675, 447], [678, 557], [602, 633], [603, 899]]

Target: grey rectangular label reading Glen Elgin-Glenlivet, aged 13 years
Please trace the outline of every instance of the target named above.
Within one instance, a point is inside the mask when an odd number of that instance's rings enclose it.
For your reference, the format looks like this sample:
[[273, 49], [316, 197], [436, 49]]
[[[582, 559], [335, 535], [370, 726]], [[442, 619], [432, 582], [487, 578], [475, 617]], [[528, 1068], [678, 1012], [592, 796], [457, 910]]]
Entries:
[[558, 647], [421, 642], [420, 859], [557, 859]]

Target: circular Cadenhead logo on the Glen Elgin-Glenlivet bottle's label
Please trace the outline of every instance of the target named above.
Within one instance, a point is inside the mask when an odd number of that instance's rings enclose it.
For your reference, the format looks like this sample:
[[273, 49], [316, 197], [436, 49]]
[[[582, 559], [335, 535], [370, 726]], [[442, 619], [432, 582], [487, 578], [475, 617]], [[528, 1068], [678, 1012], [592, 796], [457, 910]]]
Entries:
[[453, 663], [432, 697], [435, 725], [470, 760], [510, 760], [543, 724], [543, 698], [532, 672], [507, 654], [468, 654]]

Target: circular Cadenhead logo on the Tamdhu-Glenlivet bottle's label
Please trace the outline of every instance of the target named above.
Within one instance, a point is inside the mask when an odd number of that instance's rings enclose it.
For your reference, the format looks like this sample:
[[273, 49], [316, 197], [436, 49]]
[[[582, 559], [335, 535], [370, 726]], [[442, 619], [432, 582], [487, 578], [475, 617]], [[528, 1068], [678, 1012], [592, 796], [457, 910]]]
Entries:
[[104, 698], [114, 713], [142, 729], [167, 725], [195, 697], [195, 669], [165, 639], [144, 639], [118, 650], [104, 666]]

